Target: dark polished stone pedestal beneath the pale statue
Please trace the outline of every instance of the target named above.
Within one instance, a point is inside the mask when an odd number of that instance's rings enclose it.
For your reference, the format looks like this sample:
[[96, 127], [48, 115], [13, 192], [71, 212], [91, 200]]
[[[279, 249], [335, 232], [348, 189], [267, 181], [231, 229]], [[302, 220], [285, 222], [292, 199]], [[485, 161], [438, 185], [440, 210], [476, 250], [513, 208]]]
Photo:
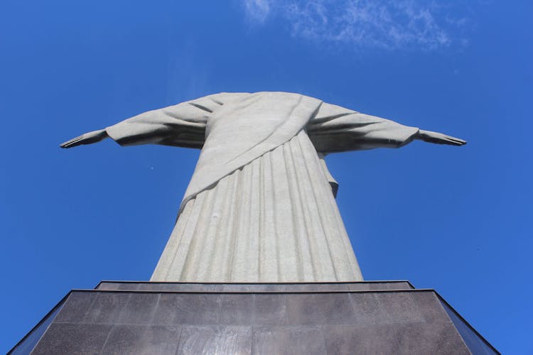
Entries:
[[12, 354], [498, 354], [407, 281], [72, 290]]

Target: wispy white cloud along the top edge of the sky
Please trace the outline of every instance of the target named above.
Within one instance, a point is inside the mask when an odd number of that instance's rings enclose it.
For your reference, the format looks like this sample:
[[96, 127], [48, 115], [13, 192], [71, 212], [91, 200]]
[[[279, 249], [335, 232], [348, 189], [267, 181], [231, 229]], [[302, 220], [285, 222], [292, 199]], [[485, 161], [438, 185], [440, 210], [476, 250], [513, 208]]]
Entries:
[[252, 22], [274, 16], [291, 34], [321, 43], [357, 48], [433, 50], [464, 43], [453, 33], [466, 18], [453, 16], [446, 1], [423, 0], [243, 0]]

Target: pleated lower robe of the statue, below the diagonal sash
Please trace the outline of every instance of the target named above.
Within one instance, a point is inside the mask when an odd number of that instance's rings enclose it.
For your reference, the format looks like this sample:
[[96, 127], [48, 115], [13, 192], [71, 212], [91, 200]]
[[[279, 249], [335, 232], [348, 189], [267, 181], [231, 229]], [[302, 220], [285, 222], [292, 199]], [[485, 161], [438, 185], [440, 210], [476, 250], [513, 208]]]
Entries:
[[362, 280], [306, 131], [186, 202], [152, 281]]

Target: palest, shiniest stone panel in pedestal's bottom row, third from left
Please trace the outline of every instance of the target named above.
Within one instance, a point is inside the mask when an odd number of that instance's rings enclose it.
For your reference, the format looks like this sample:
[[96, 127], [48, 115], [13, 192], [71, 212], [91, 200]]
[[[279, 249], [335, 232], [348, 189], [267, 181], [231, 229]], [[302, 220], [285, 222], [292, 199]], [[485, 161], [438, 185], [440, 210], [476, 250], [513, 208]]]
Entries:
[[176, 354], [252, 354], [252, 327], [183, 327]]

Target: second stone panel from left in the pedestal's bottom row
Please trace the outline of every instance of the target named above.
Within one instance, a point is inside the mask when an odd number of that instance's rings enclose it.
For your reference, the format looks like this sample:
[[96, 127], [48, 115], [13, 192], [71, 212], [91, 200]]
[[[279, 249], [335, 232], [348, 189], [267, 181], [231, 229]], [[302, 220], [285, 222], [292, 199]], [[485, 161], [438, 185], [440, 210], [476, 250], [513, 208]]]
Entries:
[[102, 355], [176, 354], [180, 327], [154, 325], [117, 325], [109, 334]]

